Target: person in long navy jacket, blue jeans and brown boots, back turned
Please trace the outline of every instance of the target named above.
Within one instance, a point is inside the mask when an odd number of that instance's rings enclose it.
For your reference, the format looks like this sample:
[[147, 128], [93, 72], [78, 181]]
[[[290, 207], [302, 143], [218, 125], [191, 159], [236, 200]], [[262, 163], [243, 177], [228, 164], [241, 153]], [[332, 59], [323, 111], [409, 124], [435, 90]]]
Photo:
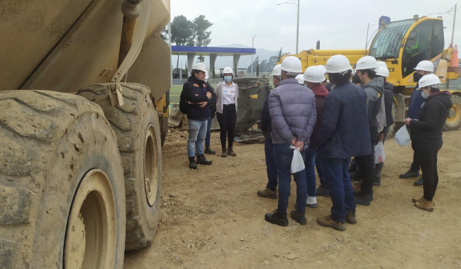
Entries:
[[352, 70], [344, 55], [328, 59], [326, 72], [334, 85], [323, 103], [322, 123], [315, 146], [318, 147], [333, 207], [331, 214], [318, 217], [317, 223], [344, 231], [345, 222], [357, 223], [354, 192], [348, 174], [350, 158], [372, 151], [367, 96], [362, 88], [350, 83]]

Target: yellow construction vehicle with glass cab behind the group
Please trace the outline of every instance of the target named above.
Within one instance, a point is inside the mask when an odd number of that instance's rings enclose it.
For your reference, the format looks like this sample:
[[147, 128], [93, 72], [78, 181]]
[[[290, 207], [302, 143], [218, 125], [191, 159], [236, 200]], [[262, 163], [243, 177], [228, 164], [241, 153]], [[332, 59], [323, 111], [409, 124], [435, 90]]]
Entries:
[[[333, 55], [345, 55], [355, 68], [357, 60], [371, 55], [384, 61], [389, 69], [387, 80], [394, 85], [393, 115], [395, 122], [404, 122], [409, 98], [416, 82], [413, 82], [414, 67], [423, 60], [431, 60], [435, 74], [452, 93], [452, 109], [445, 123], [445, 130], [457, 130], [461, 126], [461, 89], [450, 89], [450, 80], [460, 79], [460, 68], [452, 64], [457, 59], [457, 50], [451, 45], [444, 50], [442, 18], [419, 18], [390, 21], [379, 18], [379, 29], [368, 50], [304, 50], [296, 56], [301, 59], [303, 70], [307, 67], [326, 64]], [[285, 56], [286, 57], [286, 56]], [[282, 60], [284, 57], [282, 57]], [[455, 65], [455, 66], [453, 66]], [[389, 131], [393, 134], [394, 126]]]

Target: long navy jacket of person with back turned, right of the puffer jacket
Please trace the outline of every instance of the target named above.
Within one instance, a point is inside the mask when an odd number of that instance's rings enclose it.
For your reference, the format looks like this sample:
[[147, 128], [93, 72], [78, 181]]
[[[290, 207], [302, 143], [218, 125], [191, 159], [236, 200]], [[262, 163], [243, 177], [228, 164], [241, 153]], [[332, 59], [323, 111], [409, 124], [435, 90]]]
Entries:
[[372, 153], [367, 117], [367, 95], [350, 82], [335, 86], [323, 103], [323, 118], [316, 138], [318, 154], [347, 159]]

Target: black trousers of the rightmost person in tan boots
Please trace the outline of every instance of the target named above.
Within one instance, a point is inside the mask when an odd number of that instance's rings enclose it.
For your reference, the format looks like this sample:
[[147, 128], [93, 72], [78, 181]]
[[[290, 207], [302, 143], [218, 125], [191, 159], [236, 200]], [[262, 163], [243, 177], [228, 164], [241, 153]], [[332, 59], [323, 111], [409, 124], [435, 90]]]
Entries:
[[415, 151], [424, 175], [424, 199], [428, 201], [432, 201], [438, 185], [437, 154], [442, 144], [441, 139], [418, 139], [418, 147]]

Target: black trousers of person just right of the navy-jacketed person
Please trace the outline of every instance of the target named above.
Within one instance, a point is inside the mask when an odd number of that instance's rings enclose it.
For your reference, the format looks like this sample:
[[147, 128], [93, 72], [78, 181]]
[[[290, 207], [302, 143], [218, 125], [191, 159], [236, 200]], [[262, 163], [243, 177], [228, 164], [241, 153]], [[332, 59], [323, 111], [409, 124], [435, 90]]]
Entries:
[[360, 170], [362, 175], [362, 186], [360, 193], [363, 195], [370, 195], [373, 189], [373, 181], [375, 178], [374, 173], [374, 145], [378, 138], [378, 128], [370, 128], [370, 137], [372, 139], [372, 154], [365, 156], [355, 156], [355, 162], [357, 162], [357, 168]]

